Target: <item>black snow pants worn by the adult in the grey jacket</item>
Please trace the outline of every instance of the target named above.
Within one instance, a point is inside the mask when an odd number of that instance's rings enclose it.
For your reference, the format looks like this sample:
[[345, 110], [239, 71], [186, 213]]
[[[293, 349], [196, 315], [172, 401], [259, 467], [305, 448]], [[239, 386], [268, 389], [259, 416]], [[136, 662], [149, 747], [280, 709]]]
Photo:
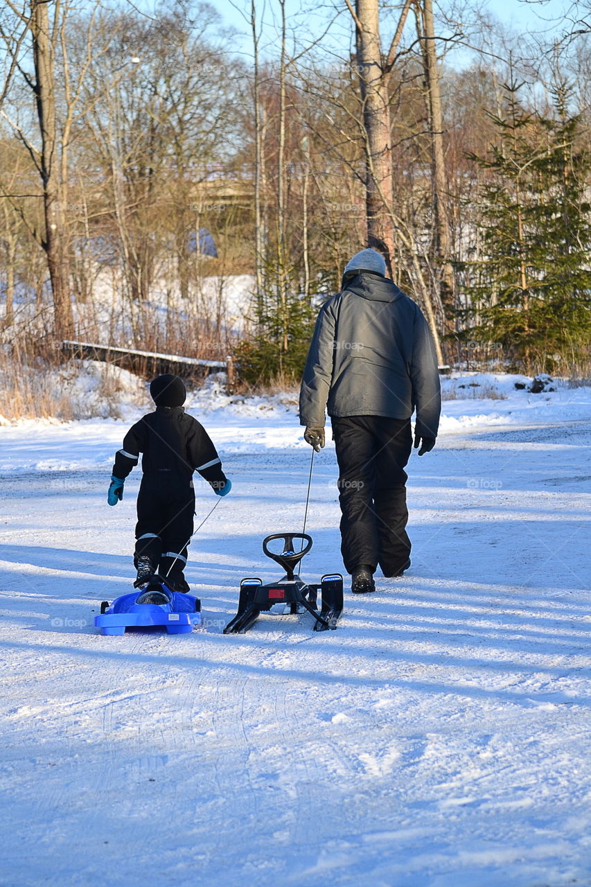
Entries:
[[410, 555], [406, 535], [409, 419], [347, 416], [332, 420], [339, 464], [341, 552], [347, 572], [360, 564], [393, 576]]

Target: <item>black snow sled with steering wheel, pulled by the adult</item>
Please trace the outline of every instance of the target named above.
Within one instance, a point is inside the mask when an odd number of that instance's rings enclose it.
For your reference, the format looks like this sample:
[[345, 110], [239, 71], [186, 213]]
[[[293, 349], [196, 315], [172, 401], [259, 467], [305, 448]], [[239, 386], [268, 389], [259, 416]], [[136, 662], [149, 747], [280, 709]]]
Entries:
[[[268, 543], [273, 539], [283, 540], [283, 551], [272, 552]], [[302, 551], [296, 552], [294, 539], [302, 539]], [[303, 613], [305, 610], [314, 616], [315, 632], [336, 628], [343, 612], [343, 577], [340, 573], [328, 573], [319, 583], [304, 582], [294, 572], [296, 564], [302, 560], [312, 546], [307, 533], [273, 533], [263, 540], [263, 551], [272, 561], [277, 561], [285, 569], [286, 575], [278, 582], [263, 584], [261, 579], [250, 577], [240, 582], [238, 613], [225, 626], [224, 633], [246, 632], [264, 611], [275, 604], [283, 604], [283, 614]], [[320, 600], [318, 600], [320, 597]]]

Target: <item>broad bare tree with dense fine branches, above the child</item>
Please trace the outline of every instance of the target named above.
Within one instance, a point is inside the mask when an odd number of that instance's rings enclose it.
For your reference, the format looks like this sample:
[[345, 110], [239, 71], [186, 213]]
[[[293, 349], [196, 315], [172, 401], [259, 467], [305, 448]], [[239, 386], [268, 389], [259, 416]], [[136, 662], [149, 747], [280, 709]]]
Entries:
[[[183, 4], [154, 20], [130, 12], [101, 20], [103, 52], [86, 78], [81, 140], [106, 179], [102, 229], [120, 254], [131, 303], [146, 302], [171, 252], [188, 297], [200, 270], [200, 226], [218, 208], [211, 186], [234, 150], [233, 78], [242, 69], [209, 42], [210, 24], [208, 16], [187, 20]], [[113, 77], [134, 60], [133, 75]]]

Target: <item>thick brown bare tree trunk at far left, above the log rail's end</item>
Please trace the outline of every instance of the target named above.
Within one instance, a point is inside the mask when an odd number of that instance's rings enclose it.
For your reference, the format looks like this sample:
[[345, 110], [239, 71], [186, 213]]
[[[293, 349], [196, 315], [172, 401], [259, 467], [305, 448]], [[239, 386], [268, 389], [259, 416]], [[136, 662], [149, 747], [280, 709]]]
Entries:
[[47, 4], [31, 0], [31, 33], [35, 62], [35, 98], [41, 131], [40, 173], [43, 182], [45, 237], [43, 249], [53, 296], [54, 334], [67, 339], [73, 333], [72, 302], [69, 292], [67, 240], [64, 207], [59, 180], [59, 142], [56, 130], [56, 96], [53, 72], [54, 48], [51, 43]]

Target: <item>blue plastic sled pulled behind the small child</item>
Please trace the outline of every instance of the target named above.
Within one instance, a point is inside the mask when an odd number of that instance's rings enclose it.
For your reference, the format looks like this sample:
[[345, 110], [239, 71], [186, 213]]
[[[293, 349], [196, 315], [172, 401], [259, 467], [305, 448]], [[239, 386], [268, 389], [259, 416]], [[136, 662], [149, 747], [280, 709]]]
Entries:
[[124, 634], [126, 628], [165, 628], [169, 634], [188, 634], [201, 625], [201, 600], [192, 594], [171, 592], [164, 581], [122, 594], [109, 605], [103, 600], [94, 624], [103, 634]]

